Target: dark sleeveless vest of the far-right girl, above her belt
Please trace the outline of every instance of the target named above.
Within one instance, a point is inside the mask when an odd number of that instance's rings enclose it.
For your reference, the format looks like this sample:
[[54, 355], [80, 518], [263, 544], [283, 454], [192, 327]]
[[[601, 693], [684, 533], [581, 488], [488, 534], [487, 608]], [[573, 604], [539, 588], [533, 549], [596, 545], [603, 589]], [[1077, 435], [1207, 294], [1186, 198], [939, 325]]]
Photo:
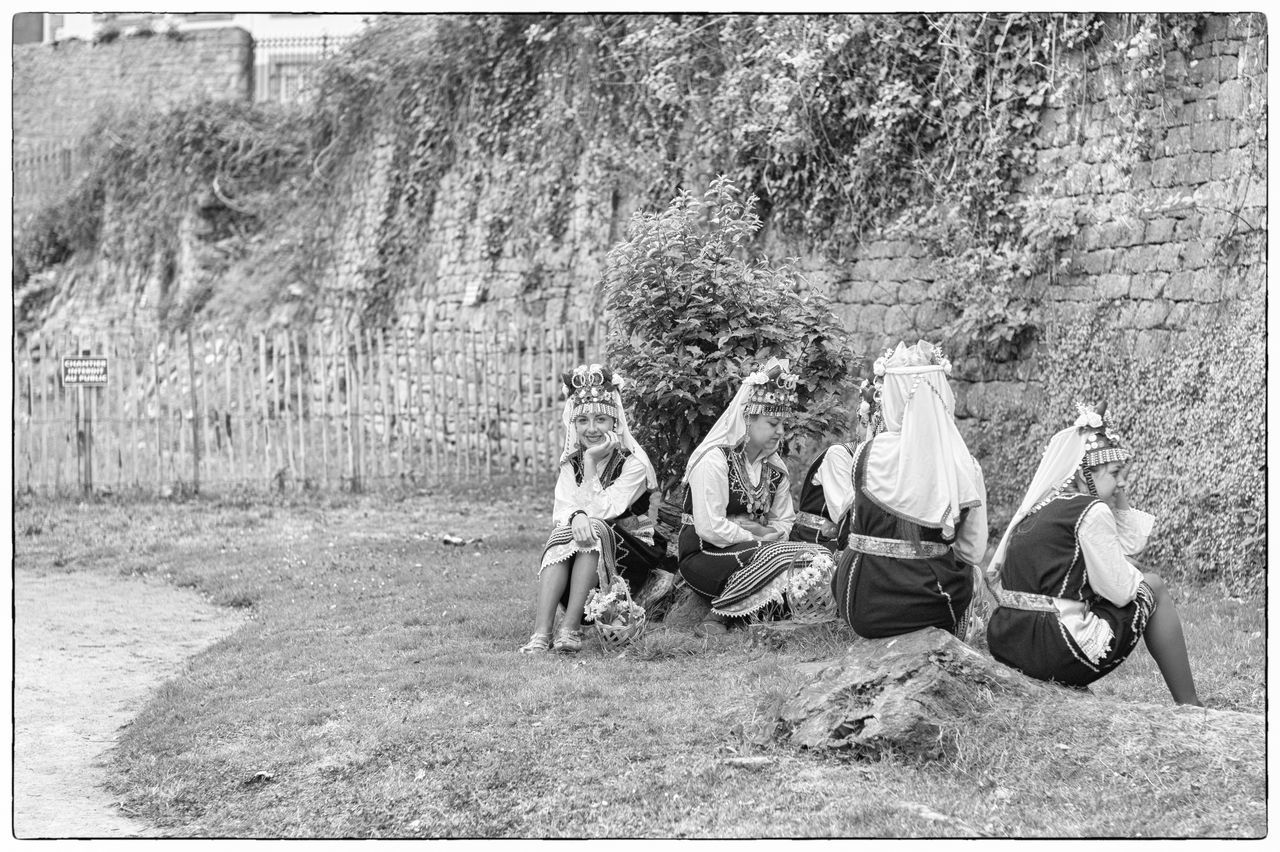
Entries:
[[1019, 522], [1009, 536], [1000, 578], [1009, 591], [1070, 600], [1092, 600], [1076, 530], [1085, 509], [1098, 499], [1075, 494], [1051, 500]]

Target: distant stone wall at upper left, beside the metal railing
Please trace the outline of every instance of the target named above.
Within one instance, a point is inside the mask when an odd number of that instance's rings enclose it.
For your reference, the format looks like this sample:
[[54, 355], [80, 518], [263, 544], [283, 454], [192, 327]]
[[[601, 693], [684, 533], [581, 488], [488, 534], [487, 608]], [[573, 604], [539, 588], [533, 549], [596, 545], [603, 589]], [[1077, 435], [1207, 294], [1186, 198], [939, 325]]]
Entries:
[[252, 95], [253, 40], [238, 28], [13, 49], [13, 137], [19, 151], [29, 143], [78, 139], [104, 111]]

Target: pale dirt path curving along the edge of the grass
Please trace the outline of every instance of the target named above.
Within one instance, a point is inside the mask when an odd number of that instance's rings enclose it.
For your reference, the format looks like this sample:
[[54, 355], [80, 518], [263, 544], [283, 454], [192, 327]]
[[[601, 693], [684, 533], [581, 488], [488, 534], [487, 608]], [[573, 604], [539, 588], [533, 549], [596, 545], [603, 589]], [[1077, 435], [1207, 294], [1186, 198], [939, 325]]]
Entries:
[[150, 692], [243, 618], [163, 581], [14, 571], [14, 834], [148, 837], [102, 788]]

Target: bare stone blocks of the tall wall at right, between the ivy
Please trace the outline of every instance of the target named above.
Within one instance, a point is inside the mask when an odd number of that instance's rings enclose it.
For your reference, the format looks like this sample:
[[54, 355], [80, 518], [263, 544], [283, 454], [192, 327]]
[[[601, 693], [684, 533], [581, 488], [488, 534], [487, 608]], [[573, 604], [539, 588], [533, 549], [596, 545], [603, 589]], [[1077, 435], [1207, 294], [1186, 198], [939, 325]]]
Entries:
[[[1112, 114], [1102, 87], [1092, 87], [1083, 105], [1047, 113], [1038, 151], [1043, 173], [1027, 191], [1056, 177], [1055, 196], [1088, 214], [1064, 265], [1036, 283], [1050, 326], [1117, 302], [1115, 322], [1132, 352], [1167, 352], [1178, 335], [1217, 320], [1242, 290], [1266, 287], [1262, 253], [1244, 266], [1230, 255], [1236, 238], [1266, 230], [1267, 64], [1260, 27], [1260, 17], [1212, 15], [1189, 59], [1166, 55], [1164, 78], [1151, 81], [1156, 104], [1139, 113], [1149, 124], [1142, 139], [1149, 159], [1139, 159], [1132, 174], [1121, 174], [1110, 156], [1132, 130]], [[919, 246], [872, 242], [847, 270], [814, 272], [829, 281], [850, 333], [868, 352], [928, 335], [946, 321], [928, 298], [937, 272]], [[986, 365], [973, 376], [980, 386], [961, 388], [957, 413], [1021, 397], [1030, 375], [1025, 365]]]

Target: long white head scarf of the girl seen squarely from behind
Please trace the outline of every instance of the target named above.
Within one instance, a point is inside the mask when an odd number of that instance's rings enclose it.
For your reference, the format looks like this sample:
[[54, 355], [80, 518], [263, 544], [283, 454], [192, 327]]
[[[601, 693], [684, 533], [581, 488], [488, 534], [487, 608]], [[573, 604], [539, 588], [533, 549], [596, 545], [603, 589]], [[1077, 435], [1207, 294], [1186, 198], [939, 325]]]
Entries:
[[955, 535], [960, 510], [987, 501], [982, 468], [955, 423], [950, 362], [929, 343], [899, 343], [883, 365], [884, 431], [867, 453], [865, 489], [881, 508]]

